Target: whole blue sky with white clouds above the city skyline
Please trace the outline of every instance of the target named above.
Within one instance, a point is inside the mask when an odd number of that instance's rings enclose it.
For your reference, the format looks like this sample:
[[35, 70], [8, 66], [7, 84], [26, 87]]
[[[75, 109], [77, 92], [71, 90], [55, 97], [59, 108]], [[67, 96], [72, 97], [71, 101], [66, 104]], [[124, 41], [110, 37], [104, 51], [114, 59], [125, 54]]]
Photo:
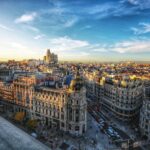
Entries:
[[150, 0], [1, 0], [0, 59], [150, 58]]

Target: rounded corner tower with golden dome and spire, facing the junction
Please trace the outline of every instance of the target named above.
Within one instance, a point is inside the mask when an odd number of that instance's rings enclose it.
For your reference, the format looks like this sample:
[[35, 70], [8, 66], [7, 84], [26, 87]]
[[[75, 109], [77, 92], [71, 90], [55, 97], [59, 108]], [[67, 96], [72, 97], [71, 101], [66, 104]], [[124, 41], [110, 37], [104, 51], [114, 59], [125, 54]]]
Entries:
[[71, 134], [82, 135], [87, 129], [87, 101], [83, 80], [77, 73], [69, 87], [68, 131]]

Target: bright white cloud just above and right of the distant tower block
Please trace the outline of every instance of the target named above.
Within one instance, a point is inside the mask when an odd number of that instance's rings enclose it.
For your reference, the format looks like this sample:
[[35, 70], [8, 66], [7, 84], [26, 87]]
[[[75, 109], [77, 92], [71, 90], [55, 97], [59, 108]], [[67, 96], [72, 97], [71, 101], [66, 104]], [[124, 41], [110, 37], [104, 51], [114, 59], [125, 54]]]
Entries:
[[50, 47], [56, 51], [78, 50], [89, 45], [87, 41], [74, 40], [70, 37], [58, 37], [50, 39]]

